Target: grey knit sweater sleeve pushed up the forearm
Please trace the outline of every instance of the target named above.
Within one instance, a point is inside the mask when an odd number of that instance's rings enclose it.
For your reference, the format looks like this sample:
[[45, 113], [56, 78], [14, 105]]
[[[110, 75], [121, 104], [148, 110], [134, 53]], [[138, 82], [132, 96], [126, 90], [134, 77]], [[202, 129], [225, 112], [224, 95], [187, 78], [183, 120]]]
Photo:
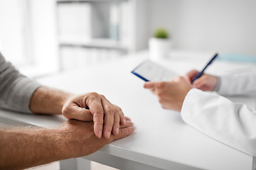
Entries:
[[0, 108], [31, 113], [31, 96], [39, 86], [36, 81], [20, 74], [0, 53]]

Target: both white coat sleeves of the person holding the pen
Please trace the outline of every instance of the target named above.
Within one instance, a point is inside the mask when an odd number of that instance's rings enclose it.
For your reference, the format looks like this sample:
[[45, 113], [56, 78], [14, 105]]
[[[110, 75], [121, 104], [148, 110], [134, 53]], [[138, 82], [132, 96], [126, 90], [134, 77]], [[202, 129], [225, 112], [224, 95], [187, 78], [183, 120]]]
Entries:
[[[256, 74], [220, 77], [220, 95], [256, 96]], [[215, 140], [256, 157], [256, 111], [223, 96], [191, 89], [181, 117], [193, 128]]]

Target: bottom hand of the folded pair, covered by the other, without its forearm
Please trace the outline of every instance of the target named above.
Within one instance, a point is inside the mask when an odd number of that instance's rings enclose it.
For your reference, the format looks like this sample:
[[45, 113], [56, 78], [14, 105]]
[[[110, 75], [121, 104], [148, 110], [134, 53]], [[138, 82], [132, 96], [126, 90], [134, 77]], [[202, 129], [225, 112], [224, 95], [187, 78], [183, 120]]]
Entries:
[[65, 142], [64, 154], [70, 157], [82, 157], [96, 152], [98, 149], [134, 132], [134, 125], [129, 118], [126, 118], [126, 125], [121, 125], [118, 135], [110, 135], [109, 139], [98, 138], [93, 132], [92, 122], [79, 120], [68, 120], [62, 127], [58, 128], [57, 134]]

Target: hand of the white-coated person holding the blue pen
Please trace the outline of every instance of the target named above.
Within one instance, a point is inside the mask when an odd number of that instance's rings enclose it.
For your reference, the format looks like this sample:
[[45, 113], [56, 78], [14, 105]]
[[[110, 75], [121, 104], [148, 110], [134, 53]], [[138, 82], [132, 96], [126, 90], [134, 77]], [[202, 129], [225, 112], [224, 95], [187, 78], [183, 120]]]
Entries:
[[[196, 77], [198, 71], [195, 69], [191, 70], [186, 74], [186, 79], [191, 82], [194, 77]], [[196, 89], [201, 89], [203, 91], [213, 91], [218, 84], [218, 77], [210, 74], [203, 74], [200, 78], [193, 81], [192, 86]]]

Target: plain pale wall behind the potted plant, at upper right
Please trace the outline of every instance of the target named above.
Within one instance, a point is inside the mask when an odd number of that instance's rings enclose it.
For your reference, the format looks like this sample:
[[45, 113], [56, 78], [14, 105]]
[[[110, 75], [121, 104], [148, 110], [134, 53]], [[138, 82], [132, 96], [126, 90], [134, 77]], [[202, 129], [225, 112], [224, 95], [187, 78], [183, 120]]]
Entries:
[[255, 0], [152, 0], [151, 33], [167, 28], [174, 47], [256, 55]]

